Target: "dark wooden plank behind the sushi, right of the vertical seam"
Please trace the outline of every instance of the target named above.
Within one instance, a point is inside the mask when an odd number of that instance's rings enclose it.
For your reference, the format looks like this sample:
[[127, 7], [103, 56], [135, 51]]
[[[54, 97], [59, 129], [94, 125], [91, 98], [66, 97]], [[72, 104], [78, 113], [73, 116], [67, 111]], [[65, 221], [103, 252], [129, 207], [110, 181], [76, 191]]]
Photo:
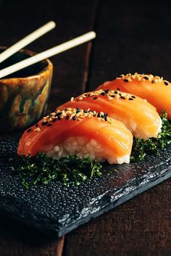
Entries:
[[101, 1], [88, 88], [121, 73], [153, 73], [171, 80], [171, 3]]

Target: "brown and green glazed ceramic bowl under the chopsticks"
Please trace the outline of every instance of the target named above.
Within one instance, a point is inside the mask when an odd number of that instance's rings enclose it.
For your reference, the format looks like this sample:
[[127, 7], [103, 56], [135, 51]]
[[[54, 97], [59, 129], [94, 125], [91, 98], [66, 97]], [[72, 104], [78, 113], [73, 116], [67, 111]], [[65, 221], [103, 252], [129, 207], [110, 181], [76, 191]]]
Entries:
[[[0, 47], [0, 53], [6, 49]], [[0, 70], [33, 56], [22, 50], [0, 64]], [[49, 59], [38, 62], [0, 80], [0, 133], [17, 131], [36, 123], [46, 109], [53, 65]]]

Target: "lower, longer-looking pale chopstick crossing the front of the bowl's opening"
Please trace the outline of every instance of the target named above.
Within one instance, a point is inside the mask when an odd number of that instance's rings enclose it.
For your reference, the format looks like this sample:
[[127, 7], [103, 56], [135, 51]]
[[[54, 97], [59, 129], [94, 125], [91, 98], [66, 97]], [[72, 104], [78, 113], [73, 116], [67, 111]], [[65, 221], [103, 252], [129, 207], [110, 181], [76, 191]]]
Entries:
[[23, 68], [33, 65], [37, 62], [40, 62], [43, 59], [47, 59], [63, 51], [67, 51], [68, 49], [71, 49], [75, 46], [86, 43], [87, 41], [90, 41], [95, 37], [96, 37], [96, 33], [91, 31], [84, 34], [83, 36], [78, 36], [77, 38], [67, 41], [64, 44], [59, 44], [59, 46], [54, 46], [53, 48], [43, 51], [40, 54], [36, 54], [33, 57], [29, 57], [28, 59], [24, 59], [21, 62], [18, 62], [12, 66], [4, 68], [3, 70], [0, 70], [0, 78], [10, 75], [18, 70], [22, 70]]

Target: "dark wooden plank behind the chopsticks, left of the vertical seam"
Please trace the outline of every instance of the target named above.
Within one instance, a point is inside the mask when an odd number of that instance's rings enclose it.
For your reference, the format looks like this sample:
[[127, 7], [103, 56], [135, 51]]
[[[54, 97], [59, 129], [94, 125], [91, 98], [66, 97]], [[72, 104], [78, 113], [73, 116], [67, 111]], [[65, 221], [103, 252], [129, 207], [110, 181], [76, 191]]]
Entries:
[[[49, 20], [57, 28], [26, 48], [40, 52], [62, 44], [93, 29], [98, 0], [93, 1], [4, 1], [0, 17], [1, 45], [10, 46]], [[81, 94], [85, 89], [91, 42], [70, 49], [55, 57], [49, 110], [70, 99], [71, 94]], [[71, 92], [71, 93], [70, 93]]]

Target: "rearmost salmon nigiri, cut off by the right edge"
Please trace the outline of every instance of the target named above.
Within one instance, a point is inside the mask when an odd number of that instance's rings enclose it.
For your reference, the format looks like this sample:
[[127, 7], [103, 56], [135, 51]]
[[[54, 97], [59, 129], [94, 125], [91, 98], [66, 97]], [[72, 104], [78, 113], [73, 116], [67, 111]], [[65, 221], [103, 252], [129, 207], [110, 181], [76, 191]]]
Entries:
[[106, 82], [96, 90], [116, 90], [117, 88], [146, 99], [156, 107], [159, 114], [162, 110], [166, 110], [168, 119], [171, 120], [171, 83], [167, 80], [159, 76], [135, 73], [134, 75], [121, 75], [120, 78]]

